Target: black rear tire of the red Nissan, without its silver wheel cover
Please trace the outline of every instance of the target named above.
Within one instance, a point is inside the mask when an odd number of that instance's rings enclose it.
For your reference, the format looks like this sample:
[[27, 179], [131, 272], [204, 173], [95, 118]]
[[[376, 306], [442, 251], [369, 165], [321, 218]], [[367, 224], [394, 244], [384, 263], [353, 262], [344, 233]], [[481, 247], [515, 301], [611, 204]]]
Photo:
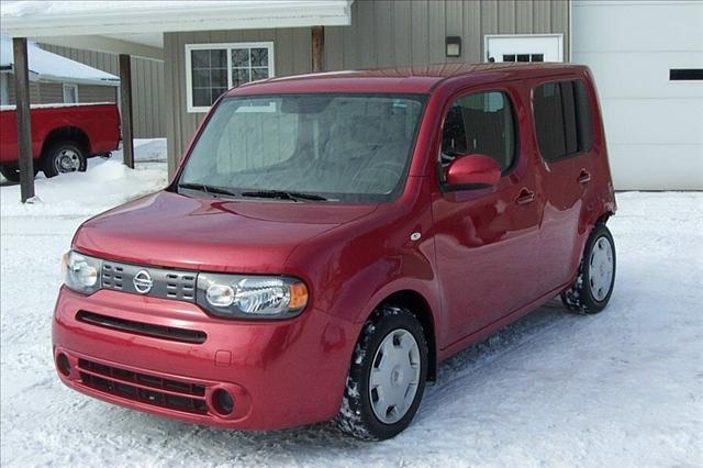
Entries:
[[[601, 241], [603, 239], [603, 241]], [[594, 290], [595, 277], [599, 271], [591, 271], [591, 263], [594, 255], [594, 249], [602, 249], [601, 247], [610, 243], [612, 254], [612, 275], [610, 282], [605, 281], [607, 291], [603, 288]], [[613, 293], [613, 287], [615, 285], [616, 272], [616, 259], [615, 259], [615, 243], [613, 242], [613, 235], [605, 224], [596, 224], [585, 243], [585, 249], [583, 257], [581, 258], [581, 265], [579, 266], [579, 274], [576, 277], [573, 283], [561, 293], [561, 302], [563, 305], [572, 312], [582, 314], [594, 314], [601, 312], [607, 305]], [[602, 274], [602, 271], [601, 271]]]

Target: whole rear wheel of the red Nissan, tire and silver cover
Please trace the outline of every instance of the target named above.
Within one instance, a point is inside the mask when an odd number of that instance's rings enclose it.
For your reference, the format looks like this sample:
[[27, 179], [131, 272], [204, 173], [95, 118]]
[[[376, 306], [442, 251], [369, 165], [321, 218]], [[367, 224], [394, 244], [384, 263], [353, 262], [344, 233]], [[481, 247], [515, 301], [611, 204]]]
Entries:
[[596, 224], [585, 243], [579, 274], [561, 293], [572, 312], [593, 314], [607, 305], [615, 285], [615, 244], [605, 224]]

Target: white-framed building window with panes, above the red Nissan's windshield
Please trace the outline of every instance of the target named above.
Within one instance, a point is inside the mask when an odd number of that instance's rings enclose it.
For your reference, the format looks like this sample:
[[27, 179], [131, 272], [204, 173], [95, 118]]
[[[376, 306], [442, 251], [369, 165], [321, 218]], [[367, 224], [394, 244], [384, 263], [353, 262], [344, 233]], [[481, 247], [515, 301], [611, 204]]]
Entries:
[[272, 42], [186, 45], [188, 112], [207, 112], [228, 88], [272, 76]]

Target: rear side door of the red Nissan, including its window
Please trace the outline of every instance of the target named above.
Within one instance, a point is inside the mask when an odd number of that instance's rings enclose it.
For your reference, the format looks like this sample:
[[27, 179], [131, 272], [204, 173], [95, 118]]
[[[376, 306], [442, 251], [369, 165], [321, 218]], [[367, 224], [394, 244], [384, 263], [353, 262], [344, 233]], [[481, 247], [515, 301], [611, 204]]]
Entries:
[[592, 113], [585, 83], [573, 78], [535, 82], [532, 99], [546, 202], [539, 278], [555, 290], [572, 280], [585, 234], [580, 220], [596, 207]]

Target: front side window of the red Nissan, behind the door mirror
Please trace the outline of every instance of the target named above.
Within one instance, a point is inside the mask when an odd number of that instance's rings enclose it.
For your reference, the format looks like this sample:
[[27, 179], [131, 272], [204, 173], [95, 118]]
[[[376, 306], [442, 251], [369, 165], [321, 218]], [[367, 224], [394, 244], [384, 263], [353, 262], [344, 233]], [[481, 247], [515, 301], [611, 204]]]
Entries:
[[515, 159], [515, 125], [510, 98], [500, 91], [478, 92], [454, 102], [445, 119], [442, 163], [477, 153], [507, 169]]

